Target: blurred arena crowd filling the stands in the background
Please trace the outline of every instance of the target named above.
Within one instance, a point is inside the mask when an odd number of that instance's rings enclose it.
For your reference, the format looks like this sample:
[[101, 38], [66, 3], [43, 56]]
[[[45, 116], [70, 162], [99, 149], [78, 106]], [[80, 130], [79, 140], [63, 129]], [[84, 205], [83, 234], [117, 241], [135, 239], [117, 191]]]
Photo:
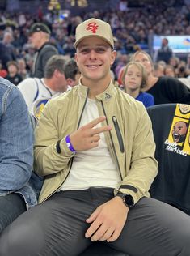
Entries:
[[[143, 49], [154, 61], [156, 76], [180, 78], [189, 86], [188, 0], [1, 0], [0, 75], [7, 79], [16, 75], [16, 84], [32, 75], [36, 49], [31, 45], [28, 32], [33, 23], [47, 24], [51, 43], [56, 45], [59, 54], [70, 59], [75, 52], [75, 28], [90, 17], [103, 19], [112, 26], [117, 51], [112, 66], [113, 79], [121, 83], [121, 68], [134, 52]], [[181, 40], [181, 49], [171, 47], [173, 39], [170, 36]]]

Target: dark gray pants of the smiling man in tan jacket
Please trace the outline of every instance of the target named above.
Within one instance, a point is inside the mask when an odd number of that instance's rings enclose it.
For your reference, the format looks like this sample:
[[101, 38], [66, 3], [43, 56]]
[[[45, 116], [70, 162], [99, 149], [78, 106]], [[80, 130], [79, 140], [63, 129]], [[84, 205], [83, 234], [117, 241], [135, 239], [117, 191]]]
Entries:
[[[74, 256], [91, 240], [85, 222], [95, 208], [113, 197], [112, 189], [64, 191], [23, 213], [0, 237], [0, 256]], [[189, 256], [190, 217], [152, 198], [129, 211], [120, 237], [103, 242], [130, 256]], [[90, 256], [90, 255], [89, 255]]]

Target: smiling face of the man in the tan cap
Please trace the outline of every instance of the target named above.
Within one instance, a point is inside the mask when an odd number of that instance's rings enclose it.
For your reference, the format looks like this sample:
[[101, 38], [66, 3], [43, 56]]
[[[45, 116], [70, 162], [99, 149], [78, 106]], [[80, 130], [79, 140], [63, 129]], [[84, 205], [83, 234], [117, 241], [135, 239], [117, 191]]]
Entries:
[[116, 52], [99, 37], [84, 38], [77, 47], [75, 60], [81, 71], [82, 84], [88, 87], [108, 87], [111, 80], [110, 66]]

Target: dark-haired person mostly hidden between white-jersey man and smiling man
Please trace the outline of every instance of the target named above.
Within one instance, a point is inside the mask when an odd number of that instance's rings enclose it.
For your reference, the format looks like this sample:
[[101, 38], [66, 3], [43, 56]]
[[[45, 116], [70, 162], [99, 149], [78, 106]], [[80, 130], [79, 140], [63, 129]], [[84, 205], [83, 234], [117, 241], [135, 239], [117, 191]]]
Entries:
[[65, 62], [64, 73], [65, 79], [70, 87], [74, 87], [78, 84], [81, 73], [74, 58]]

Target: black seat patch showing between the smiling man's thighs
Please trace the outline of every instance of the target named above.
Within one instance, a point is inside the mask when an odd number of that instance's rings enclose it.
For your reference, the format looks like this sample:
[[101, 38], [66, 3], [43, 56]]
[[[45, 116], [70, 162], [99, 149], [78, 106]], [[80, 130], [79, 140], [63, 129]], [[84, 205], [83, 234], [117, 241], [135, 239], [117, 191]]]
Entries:
[[129, 256], [118, 250], [114, 250], [111, 247], [104, 245], [103, 242], [97, 241], [87, 248], [79, 256]]

